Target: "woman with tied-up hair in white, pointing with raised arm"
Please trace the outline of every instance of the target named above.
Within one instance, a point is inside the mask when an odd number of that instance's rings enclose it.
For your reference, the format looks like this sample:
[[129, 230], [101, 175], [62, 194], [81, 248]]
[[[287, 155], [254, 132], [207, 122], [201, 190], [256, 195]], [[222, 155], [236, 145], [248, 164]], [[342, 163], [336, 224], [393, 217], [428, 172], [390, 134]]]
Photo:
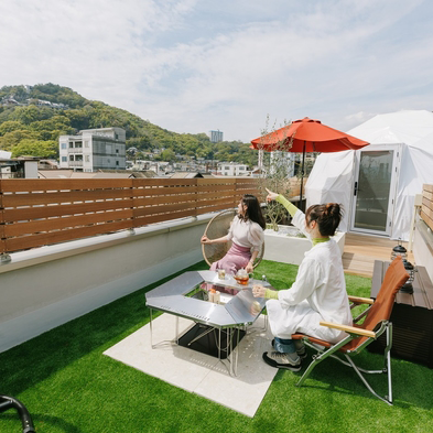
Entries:
[[292, 224], [313, 243], [313, 248], [305, 252], [290, 289], [279, 292], [262, 285], [252, 289], [256, 297], [269, 299], [268, 320], [275, 337], [272, 342], [275, 350], [266, 351], [263, 360], [272, 367], [297, 371], [306, 353], [299, 340], [291, 339], [292, 334], [303, 333], [336, 343], [346, 334], [321, 326], [320, 322], [353, 324], [342, 253], [332, 239], [342, 219], [342, 208], [337, 203], [313, 205], [304, 214], [282, 195], [268, 192], [268, 201], [281, 203], [293, 217]]

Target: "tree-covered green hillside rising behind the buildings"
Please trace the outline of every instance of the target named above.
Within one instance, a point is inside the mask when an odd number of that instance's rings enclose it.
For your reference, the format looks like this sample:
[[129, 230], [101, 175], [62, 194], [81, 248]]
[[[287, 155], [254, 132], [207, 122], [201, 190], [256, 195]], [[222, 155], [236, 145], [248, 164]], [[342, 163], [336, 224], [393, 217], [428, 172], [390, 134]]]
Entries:
[[[50, 104], [51, 102], [51, 104]], [[58, 158], [58, 137], [80, 129], [120, 127], [127, 131], [127, 149], [139, 152], [165, 149], [175, 154], [234, 161], [253, 165], [256, 152], [249, 143], [210, 143], [206, 133], [175, 133], [120, 108], [88, 100], [68, 87], [55, 84], [3, 86], [0, 89], [0, 150], [14, 158]], [[140, 153], [136, 156], [140, 158]]]

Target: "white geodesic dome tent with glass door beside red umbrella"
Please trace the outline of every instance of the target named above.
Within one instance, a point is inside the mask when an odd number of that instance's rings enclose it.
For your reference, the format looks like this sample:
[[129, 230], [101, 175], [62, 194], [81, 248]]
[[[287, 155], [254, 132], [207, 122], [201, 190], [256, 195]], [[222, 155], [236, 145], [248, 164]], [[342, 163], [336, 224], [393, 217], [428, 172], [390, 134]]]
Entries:
[[[414, 196], [422, 193], [424, 183], [433, 183], [433, 112], [402, 110], [378, 115], [348, 133], [370, 144], [357, 151], [318, 155], [305, 186], [307, 206], [342, 203], [345, 208], [342, 231], [366, 231], [409, 240]], [[375, 156], [378, 156], [376, 165]], [[371, 169], [364, 178], [362, 158], [369, 161]], [[390, 176], [389, 187], [377, 197], [375, 194], [380, 190], [377, 178], [383, 172]], [[362, 188], [364, 210], [358, 199], [361, 181], [368, 184]], [[369, 194], [371, 207], [365, 205]], [[357, 225], [356, 219], [361, 220], [362, 212], [370, 220], [382, 219], [382, 227], [362, 221]]]

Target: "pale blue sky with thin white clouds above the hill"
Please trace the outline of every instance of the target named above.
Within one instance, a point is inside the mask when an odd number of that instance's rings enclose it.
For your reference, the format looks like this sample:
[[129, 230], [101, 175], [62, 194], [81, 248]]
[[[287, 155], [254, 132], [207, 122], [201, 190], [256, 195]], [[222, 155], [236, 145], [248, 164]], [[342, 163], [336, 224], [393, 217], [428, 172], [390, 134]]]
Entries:
[[0, 41], [0, 87], [59, 84], [175, 132], [433, 109], [431, 0], [3, 0]]

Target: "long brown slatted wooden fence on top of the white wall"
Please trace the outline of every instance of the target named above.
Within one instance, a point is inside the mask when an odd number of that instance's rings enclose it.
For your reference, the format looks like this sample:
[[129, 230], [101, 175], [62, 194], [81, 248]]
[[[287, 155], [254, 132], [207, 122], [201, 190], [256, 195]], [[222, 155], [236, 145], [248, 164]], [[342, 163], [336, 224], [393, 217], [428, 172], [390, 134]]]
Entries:
[[256, 178], [0, 180], [0, 253], [235, 207]]

